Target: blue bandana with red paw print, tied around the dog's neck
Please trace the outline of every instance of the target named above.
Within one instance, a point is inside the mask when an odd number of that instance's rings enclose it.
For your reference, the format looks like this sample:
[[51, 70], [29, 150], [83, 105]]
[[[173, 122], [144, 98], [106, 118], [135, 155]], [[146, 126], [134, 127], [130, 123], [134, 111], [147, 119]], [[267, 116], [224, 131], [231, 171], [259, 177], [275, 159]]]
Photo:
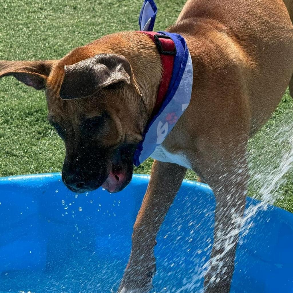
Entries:
[[[139, 16], [142, 31], [152, 31], [156, 19], [157, 7], [154, 0], [145, 0]], [[154, 153], [157, 147], [171, 132], [172, 128], [190, 103], [193, 68], [190, 53], [184, 38], [176, 33], [159, 31], [169, 36], [175, 46], [176, 55], [171, 81], [158, 113], [144, 130], [143, 139], [134, 154], [134, 165], [138, 166]]]

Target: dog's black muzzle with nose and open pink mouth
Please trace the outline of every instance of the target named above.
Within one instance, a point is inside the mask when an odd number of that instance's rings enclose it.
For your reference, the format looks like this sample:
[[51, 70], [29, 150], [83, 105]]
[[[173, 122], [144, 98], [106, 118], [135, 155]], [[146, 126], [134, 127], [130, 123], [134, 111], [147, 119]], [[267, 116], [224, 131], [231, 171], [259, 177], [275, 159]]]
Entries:
[[62, 180], [69, 190], [76, 193], [92, 191], [100, 186], [111, 193], [118, 192], [132, 178], [134, 149], [135, 146], [125, 145], [112, 153], [101, 149], [100, 152], [92, 149], [79, 154], [68, 152], [63, 164]]

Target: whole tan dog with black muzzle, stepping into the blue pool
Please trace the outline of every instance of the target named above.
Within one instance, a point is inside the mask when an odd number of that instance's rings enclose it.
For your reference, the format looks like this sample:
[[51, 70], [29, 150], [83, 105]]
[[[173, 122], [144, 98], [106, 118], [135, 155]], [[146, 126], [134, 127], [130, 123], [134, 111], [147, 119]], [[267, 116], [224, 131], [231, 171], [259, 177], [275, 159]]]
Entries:
[[[282, 0], [189, 0], [168, 29], [187, 41], [192, 97], [163, 142], [170, 162], [153, 164], [120, 292], [149, 291], [156, 234], [186, 161], [212, 187], [217, 202], [205, 290], [229, 292], [248, 180], [247, 141], [269, 119], [288, 84], [293, 94], [293, 1], [286, 6]], [[117, 192], [130, 182], [133, 152], [161, 80], [160, 56], [147, 35], [107, 35], [60, 60], [1, 61], [0, 76], [5, 75], [46, 89], [49, 121], [66, 146], [62, 178], [69, 189], [84, 192], [103, 184]], [[180, 158], [183, 166], [173, 163]]]

